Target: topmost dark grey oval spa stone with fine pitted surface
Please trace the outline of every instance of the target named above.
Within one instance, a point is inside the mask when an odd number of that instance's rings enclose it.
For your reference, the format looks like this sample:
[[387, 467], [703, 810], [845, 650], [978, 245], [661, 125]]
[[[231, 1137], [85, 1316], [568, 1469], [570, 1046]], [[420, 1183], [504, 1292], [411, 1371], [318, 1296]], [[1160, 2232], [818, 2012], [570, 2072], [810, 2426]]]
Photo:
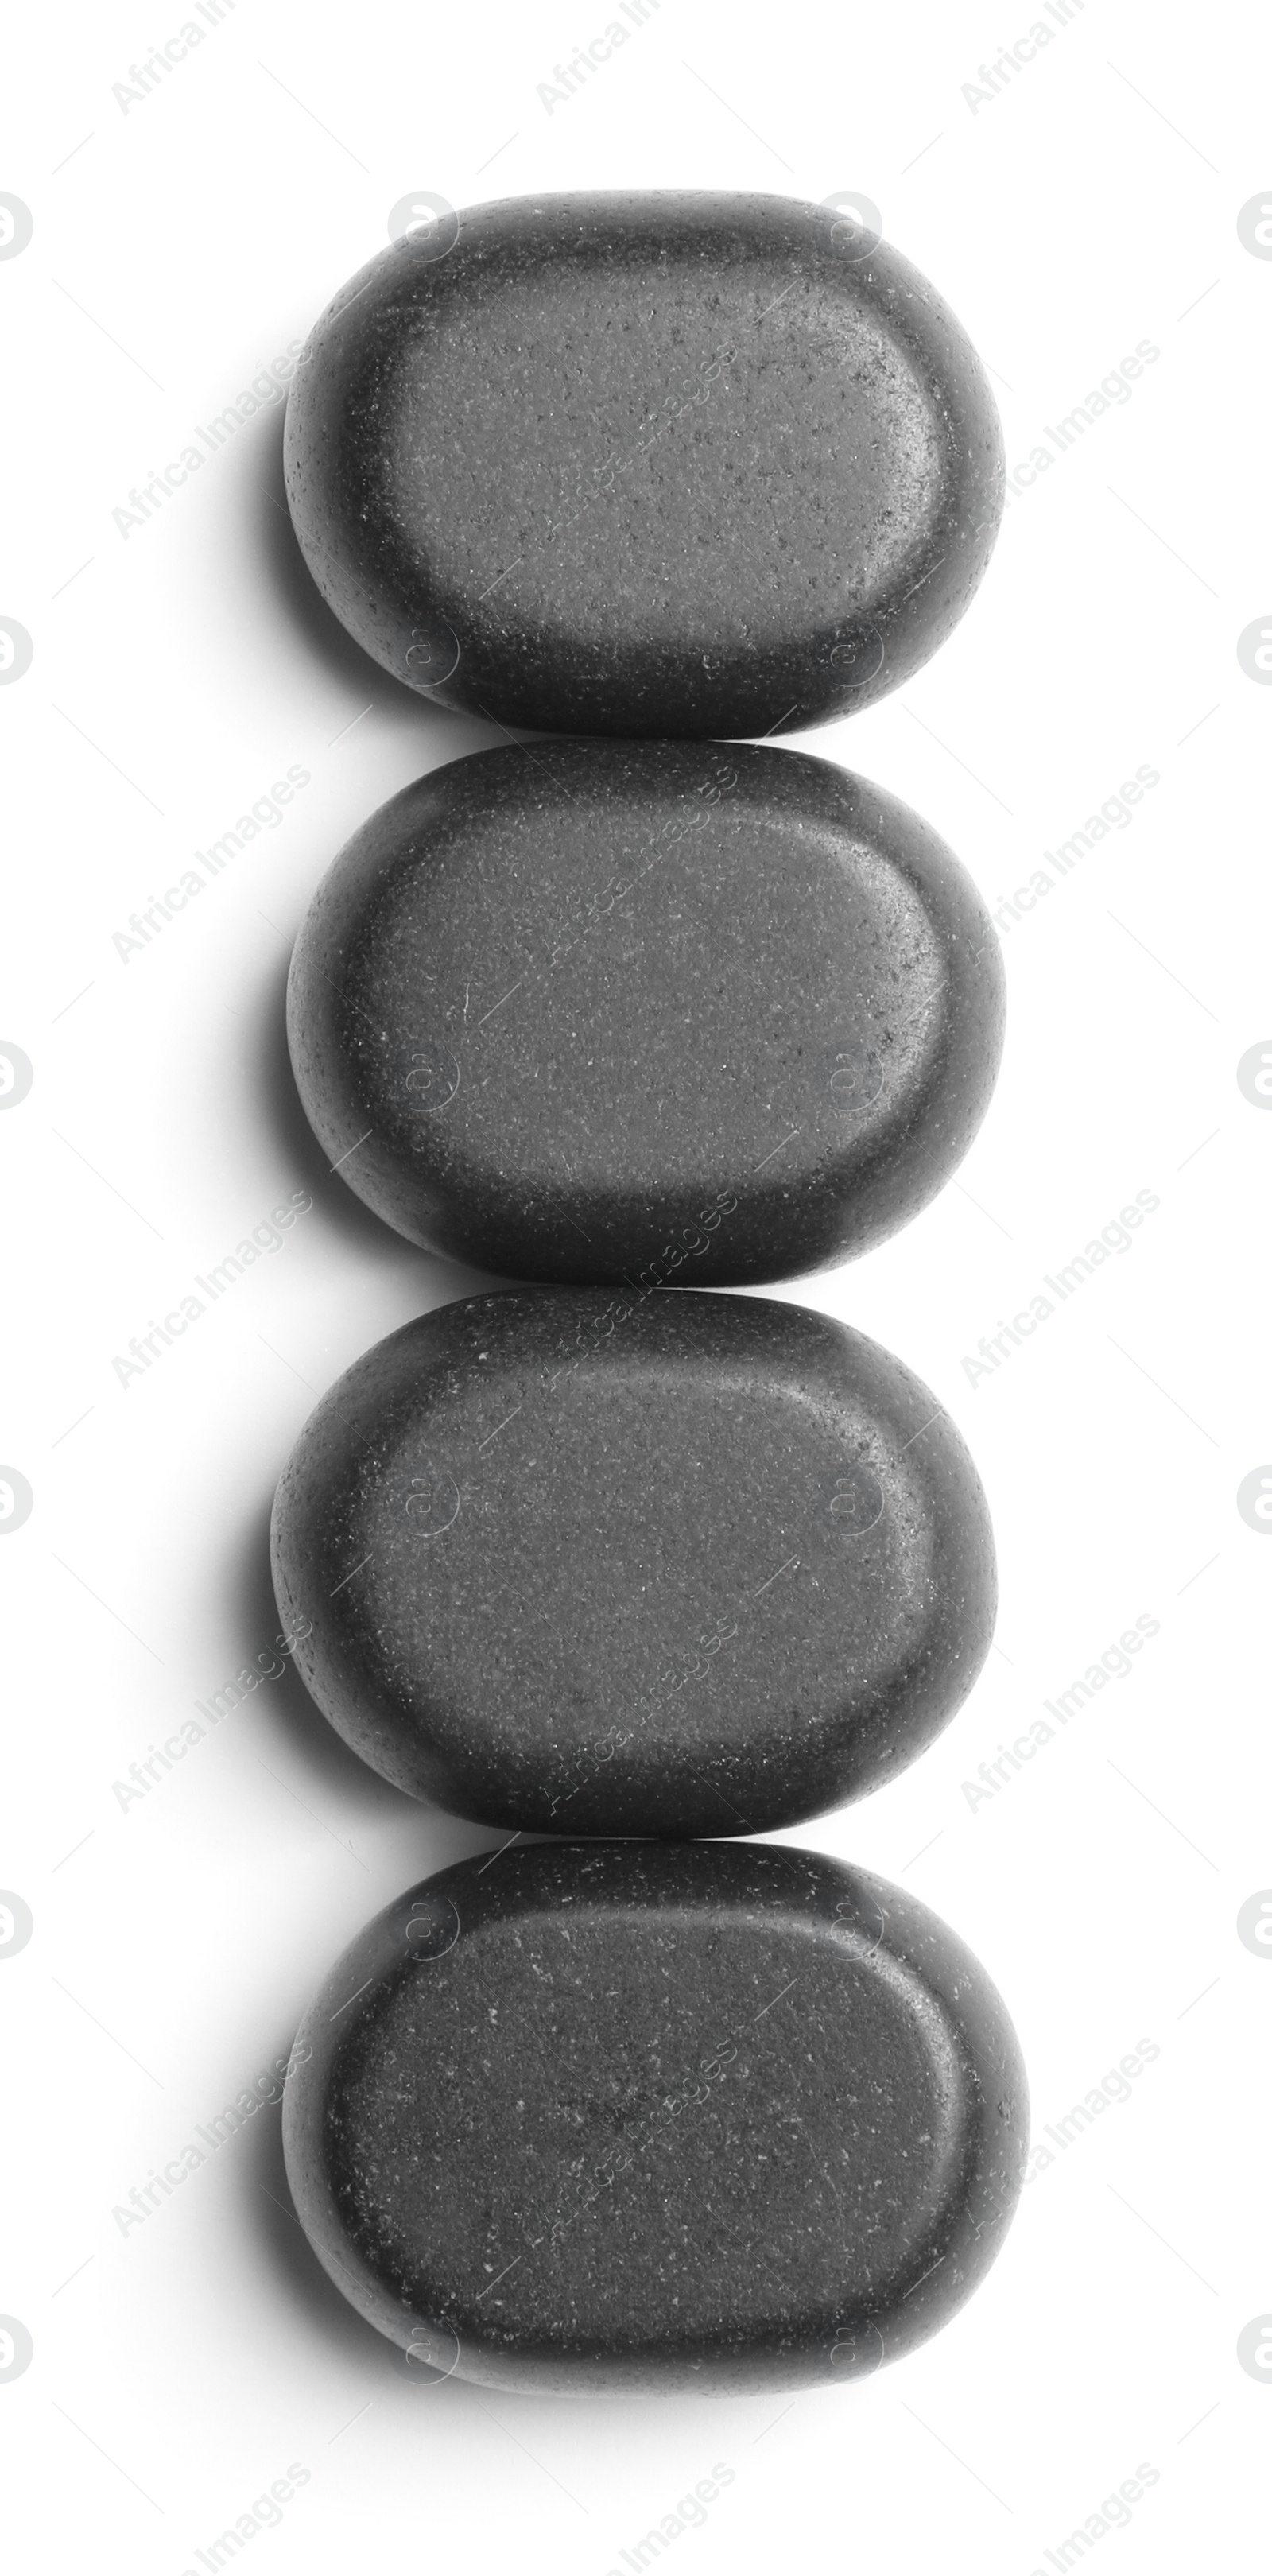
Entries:
[[945, 641], [1004, 469], [976, 350], [875, 232], [654, 191], [381, 250], [296, 366], [286, 489], [335, 616], [438, 706], [778, 734]]

